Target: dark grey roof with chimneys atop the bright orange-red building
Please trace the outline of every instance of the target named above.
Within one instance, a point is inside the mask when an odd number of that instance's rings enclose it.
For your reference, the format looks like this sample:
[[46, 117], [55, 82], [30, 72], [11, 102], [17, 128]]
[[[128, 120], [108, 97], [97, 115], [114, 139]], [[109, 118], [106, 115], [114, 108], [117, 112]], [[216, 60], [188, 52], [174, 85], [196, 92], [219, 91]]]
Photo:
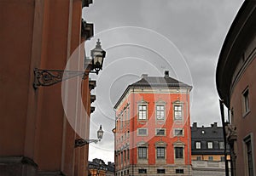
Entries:
[[114, 109], [117, 108], [120, 101], [124, 98], [125, 94], [130, 88], [188, 88], [189, 91], [192, 89], [192, 86], [179, 82], [176, 79], [169, 77], [169, 71], [165, 71], [164, 77], [148, 77], [148, 75], [143, 74], [143, 78], [139, 81], [130, 84], [122, 96], [119, 98], [118, 102], [114, 105]]

